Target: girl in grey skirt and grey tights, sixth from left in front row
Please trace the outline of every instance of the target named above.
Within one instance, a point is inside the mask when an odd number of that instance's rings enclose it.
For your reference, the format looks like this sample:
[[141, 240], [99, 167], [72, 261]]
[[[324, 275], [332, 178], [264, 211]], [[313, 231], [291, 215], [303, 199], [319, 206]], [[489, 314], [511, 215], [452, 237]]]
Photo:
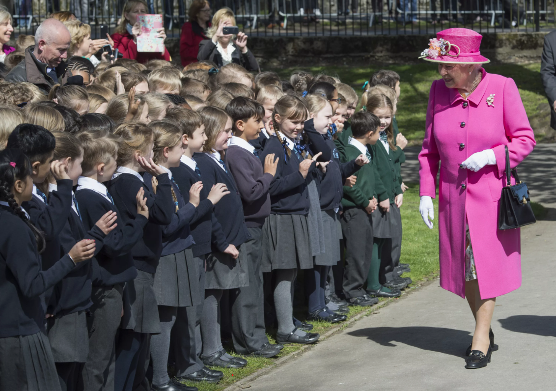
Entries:
[[[196, 213], [196, 207], [199, 205], [199, 194], [203, 185], [202, 182], [197, 182], [191, 186], [189, 202], [186, 204], [170, 171], [171, 167], [180, 165], [180, 158], [183, 155], [181, 130], [169, 121], [151, 122], [149, 127], [155, 135], [153, 160], [165, 169], [168, 178], [172, 181], [172, 200], [175, 204], [172, 222], [162, 226], [162, 256], [153, 284], [162, 332], [154, 334], [151, 338], [153, 368], [151, 389], [196, 391], [195, 387], [186, 387], [175, 379], [170, 379], [168, 353], [177, 309], [196, 306], [203, 299], [198, 295], [198, 276], [191, 251], [193, 237], [189, 226]], [[152, 176], [146, 172], [143, 179], [150, 181]], [[192, 337], [195, 338], [195, 335]]]

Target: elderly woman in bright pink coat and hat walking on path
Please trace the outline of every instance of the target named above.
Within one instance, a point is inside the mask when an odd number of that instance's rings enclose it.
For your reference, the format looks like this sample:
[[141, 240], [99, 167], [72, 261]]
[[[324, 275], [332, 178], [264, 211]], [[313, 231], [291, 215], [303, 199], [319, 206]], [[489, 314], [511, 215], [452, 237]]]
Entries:
[[[423, 150], [419, 154], [419, 210], [433, 227], [440, 162], [440, 285], [469, 303], [475, 318], [466, 368], [490, 362], [490, 321], [497, 296], [521, 285], [520, 231], [498, 229], [505, 150], [516, 167], [535, 146], [515, 82], [487, 73], [480, 34], [450, 28], [421, 53], [442, 77], [430, 88]], [[513, 178], [512, 178], [513, 180]], [[514, 184], [514, 182], [513, 182]]]

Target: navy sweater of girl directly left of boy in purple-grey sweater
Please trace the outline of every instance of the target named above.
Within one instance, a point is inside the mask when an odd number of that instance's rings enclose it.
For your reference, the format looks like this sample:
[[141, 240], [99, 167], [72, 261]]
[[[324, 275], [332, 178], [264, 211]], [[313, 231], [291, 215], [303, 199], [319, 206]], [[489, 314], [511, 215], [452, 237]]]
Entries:
[[[234, 178], [229, 172], [222, 170], [222, 166], [209, 155], [195, 154], [193, 157], [201, 170], [203, 187], [210, 189], [213, 185], [225, 184], [230, 191], [230, 194], [222, 197], [218, 204], [214, 206], [214, 215], [220, 223], [222, 233], [226, 236], [226, 242], [239, 247], [251, 238], [251, 234], [245, 226], [241, 196]], [[215, 235], [214, 229], [213, 235]], [[213, 251], [217, 251], [214, 244]]]

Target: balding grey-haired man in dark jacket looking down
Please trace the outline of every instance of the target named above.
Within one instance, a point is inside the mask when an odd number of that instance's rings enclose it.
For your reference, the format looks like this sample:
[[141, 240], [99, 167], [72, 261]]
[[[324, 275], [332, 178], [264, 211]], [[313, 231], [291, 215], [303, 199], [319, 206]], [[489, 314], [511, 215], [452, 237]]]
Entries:
[[71, 35], [64, 24], [56, 19], [46, 19], [37, 28], [35, 44], [25, 50], [25, 59], [6, 76], [6, 81], [28, 81], [45, 95], [56, 83], [64, 84], [71, 72], [64, 75]]

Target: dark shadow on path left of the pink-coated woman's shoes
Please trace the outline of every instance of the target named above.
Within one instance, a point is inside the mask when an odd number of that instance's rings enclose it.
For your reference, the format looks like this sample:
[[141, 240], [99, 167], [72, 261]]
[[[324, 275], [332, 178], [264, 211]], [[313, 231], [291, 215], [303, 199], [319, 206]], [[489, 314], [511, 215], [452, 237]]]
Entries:
[[347, 333], [351, 336], [366, 336], [386, 347], [397, 347], [395, 342], [410, 345], [430, 352], [438, 352], [464, 357], [465, 349], [471, 343], [469, 331], [440, 327], [371, 327]]

